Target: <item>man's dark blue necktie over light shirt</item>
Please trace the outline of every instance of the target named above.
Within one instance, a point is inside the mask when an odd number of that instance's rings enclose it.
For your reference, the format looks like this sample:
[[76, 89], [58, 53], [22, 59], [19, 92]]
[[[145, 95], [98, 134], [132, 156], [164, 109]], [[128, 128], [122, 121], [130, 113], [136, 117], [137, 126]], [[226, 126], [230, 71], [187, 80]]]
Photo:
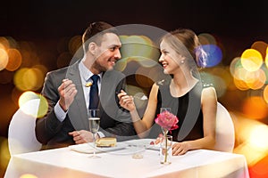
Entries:
[[93, 80], [93, 84], [90, 86], [90, 93], [89, 93], [89, 109], [97, 109], [98, 106], [98, 87], [97, 87], [97, 80], [99, 76], [93, 75], [90, 77]]

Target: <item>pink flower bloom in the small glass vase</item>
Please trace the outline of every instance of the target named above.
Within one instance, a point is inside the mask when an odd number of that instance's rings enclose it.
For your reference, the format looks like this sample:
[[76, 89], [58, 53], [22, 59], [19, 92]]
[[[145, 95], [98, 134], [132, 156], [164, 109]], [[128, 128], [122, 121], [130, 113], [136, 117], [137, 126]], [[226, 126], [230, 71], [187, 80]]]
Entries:
[[167, 129], [169, 131], [179, 128], [179, 126], [177, 125], [178, 122], [178, 117], [176, 117], [169, 111], [163, 111], [155, 118], [156, 124], [162, 126], [164, 129]]

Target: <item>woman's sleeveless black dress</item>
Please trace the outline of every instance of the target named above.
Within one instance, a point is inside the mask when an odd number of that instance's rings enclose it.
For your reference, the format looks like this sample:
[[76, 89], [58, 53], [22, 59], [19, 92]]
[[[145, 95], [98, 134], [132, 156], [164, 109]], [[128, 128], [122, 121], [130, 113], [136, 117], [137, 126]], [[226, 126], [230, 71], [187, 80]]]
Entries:
[[[172, 114], [179, 118], [179, 128], [172, 130], [173, 141], [191, 141], [204, 137], [203, 112], [201, 109], [202, 83], [198, 82], [188, 93], [180, 97], [173, 97], [170, 92], [171, 80], [162, 80], [157, 93], [157, 109], [155, 118], [160, 113], [160, 108], [171, 108]], [[162, 133], [161, 127], [154, 123], [148, 138], [156, 138]]]

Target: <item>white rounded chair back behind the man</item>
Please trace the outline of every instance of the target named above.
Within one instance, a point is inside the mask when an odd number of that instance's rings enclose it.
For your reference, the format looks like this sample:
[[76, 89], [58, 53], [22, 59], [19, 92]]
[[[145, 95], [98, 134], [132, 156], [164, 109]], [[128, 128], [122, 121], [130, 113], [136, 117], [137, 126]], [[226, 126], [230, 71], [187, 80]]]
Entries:
[[27, 101], [13, 115], [8, 128], [8, 147], [11, 156], [41, 149], [42, 144], [38, 142], [35, 134], [39, 102], [39, 99]]

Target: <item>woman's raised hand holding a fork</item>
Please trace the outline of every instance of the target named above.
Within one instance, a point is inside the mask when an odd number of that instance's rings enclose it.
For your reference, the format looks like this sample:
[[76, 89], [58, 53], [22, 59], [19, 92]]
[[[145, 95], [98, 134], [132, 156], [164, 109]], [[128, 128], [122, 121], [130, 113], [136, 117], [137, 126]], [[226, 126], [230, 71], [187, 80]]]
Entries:
[[121, 92], [118, 93], [117, 96], [119, 98], [119, 104], [122, 108], [128, 109], [130, 111], [136, 109], [133, 96], [128, 95], [123, 90], [121, 90]]

